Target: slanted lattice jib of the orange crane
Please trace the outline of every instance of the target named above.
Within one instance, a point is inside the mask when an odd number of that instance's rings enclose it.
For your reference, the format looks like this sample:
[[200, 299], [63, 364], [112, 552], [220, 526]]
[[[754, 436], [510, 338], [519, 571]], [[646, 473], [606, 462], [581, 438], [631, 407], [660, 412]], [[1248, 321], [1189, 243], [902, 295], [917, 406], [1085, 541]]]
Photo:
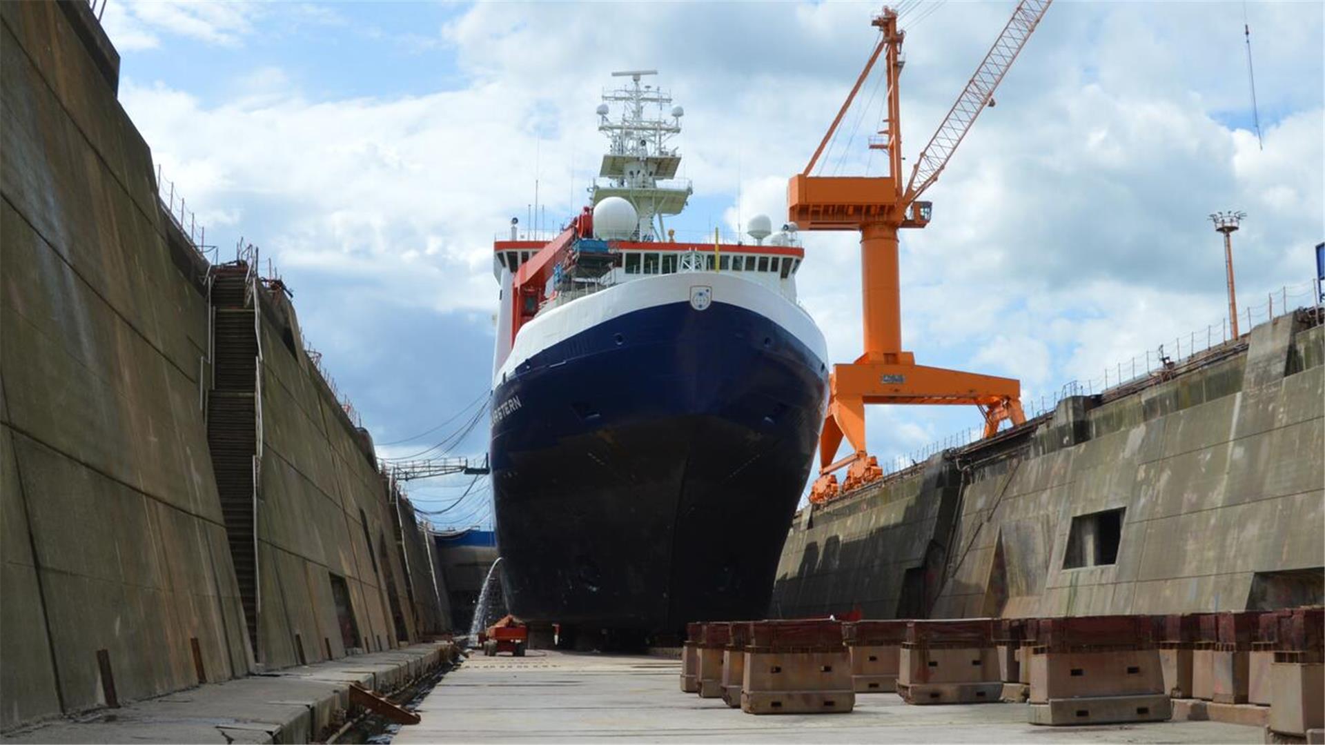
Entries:
[[1012, 61], [1026, 46], [1026, 40], [1031, 37], [1031, 32], [1039, 25], [1040, 19], [1044, 17], [1044, 12], [1049, 9], [1049, 3], [1053, 0], [1022, 0], [1018, 4], [1016, 11], [1012, 12], [1012, 17], [1007, 21], [1003, 28], [1003, 33], [999, 34], [998, 41], [990, 48], [988, 54], [984, 56], [984, 61], [971, 76], [970, 82], [966, 84], [966, 89], [961, 95], [957, 97], [957, 103], [953, 103], [953, 109], [947, 113], [943, 123], [930, 138], [929, 144], [921, 151], [920, 158], [916, 159], [916, 167], [912, 170], [910, 182], [906, 184], [906, 196], [904, 203], [910, 203], [916, 200], [929, 184], [934, 183], [938, 174], [943, 171], [947, 166], [947, 159], [953, 156], [953, 151], [970, 131], [971, 125], [975, 123], [975, 117], [980, 114], [984, 106], [988, 105], [990, 99], [994, 97], [994, 89], [1007, 74], [1007, 69], [1012, 66]]

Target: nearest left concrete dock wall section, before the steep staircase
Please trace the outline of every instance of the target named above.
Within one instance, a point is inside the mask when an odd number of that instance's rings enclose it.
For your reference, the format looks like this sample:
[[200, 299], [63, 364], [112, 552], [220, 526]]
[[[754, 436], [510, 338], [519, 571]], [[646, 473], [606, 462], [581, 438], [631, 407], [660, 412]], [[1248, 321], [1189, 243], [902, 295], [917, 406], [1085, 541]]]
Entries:
[[249, 671], [207, 302], [78, 5], [0, 4], [3, 728], [102, 704], [102, 650], [121, 699], [196, 684], [195, 639], [209, 680]]

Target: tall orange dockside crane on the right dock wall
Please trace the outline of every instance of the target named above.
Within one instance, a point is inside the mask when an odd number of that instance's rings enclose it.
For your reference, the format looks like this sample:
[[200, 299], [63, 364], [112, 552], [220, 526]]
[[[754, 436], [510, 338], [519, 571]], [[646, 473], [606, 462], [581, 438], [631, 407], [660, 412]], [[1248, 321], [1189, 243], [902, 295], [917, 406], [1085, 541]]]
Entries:
[[[873, 20], [880, 37], [865, 69], [806, 170], [792, 176], [787, 184], [787, 212], [799, 228], [860, 231], [865, 349], [856, 362], [833, 365], [828, 411], [819, 436], [819, 479], [811, 490], [811, 501], [831, 500], [840, 489], [853, 489], [882, 476], [877, 460], [865, 452], [865, 404], [975, 404], [984, 415], [986, 436], [996, 432], [1003, 420], [1011, 420], [1012, 424], [1026, 422], [1018, 380], [916, 365], [916, 355], [902, 350], [897, 231], [929, 224], [931, 204], [918, 201], [917, 198], [938, 179], [975, 117], [986, 106], [994, 105], [994, 89], [1044, 17], [1051, 1], [1023, 0], [1018, 4], [1003, 33], [916, 159], [905, 188], [901, 182], [902, 135], [897, 84], [902, 72], [900, 54], [906, 33], [897, 28], [897, 12], [885, 7]], [[880, 137], [871, 138], [869, 147], [886, 151], [888, 175], [811, 175], [880, 54], [884, 57], [886, 76], [882, 82], [888, 86], [888, 113], [884, 129], [878, 131]], [[851, 443], [852, 453], [833, 461], [843, 436]], [[849, 468], [839, 488], [833, 472], [843, 467]]]

